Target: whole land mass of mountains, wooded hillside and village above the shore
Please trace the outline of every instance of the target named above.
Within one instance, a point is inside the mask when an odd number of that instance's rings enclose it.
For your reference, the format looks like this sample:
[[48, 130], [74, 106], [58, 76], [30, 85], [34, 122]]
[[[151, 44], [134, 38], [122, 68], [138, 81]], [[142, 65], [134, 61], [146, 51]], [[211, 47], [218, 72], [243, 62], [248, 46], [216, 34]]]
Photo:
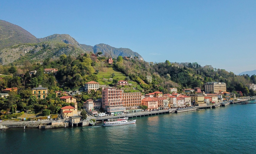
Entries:
[[17, 25], [0, 24], [8, 39], [0, 41], [1, 119], [22, 113], [68, 118], [83, 109], [92, 116], [117, 115], [255, 96], [255, 75], [197, 62], [146, 62], [128, 48], [79, 44], [67, 34], [36, 38]]

